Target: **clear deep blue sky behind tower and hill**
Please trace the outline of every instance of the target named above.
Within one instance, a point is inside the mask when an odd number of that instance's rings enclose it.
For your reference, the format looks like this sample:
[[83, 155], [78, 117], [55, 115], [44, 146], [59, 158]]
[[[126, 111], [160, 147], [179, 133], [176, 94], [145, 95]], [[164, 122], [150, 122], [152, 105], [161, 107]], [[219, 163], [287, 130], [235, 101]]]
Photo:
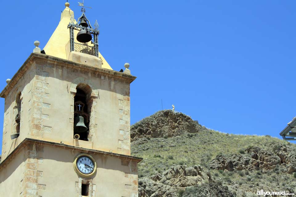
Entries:
[[[1, 89], [35, 40], [45, 46], [65, 2], [12, 1], [3, 7]], [[69, 3], [77, 19], [80, 7]], [[161, 99], [163, 109], [174, 104], [200, 124], [234, 134], [280, 137], [296, 115], [295, 1], [84, 3], [92, 7], [88, 19], [100, 25], [101, 54], [114, 70], [129, 62], [138, 77], [131, 84], [132, 124], [159, 111]], [[1, 98], [0, 125], [3, 106]]]

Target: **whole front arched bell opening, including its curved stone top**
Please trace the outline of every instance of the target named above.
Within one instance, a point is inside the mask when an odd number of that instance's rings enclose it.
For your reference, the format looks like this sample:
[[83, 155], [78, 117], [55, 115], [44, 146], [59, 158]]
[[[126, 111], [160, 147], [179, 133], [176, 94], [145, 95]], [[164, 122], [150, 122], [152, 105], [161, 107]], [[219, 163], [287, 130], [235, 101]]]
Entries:
[[79, 84], [76, 87], [76, 94], [74, 96], [74, 139], [77, 139], [76, 134], [78, 134], [80, 140], [88, 141], [91, 113], [91, 103], [89, 103], [89, 98], [91, 92], [91, 88], [88, 85]]

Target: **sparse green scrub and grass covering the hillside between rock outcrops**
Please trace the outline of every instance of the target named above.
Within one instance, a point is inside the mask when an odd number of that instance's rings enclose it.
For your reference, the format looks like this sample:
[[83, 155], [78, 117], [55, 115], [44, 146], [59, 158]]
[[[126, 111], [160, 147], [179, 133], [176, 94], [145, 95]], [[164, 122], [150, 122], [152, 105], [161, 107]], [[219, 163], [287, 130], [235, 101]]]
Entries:
[[[224, 170], [209, 169], [208, 163], [218, 155], [229, 157], [248, 155], [250, 154], [246, 151], [248, 148], [264, 148], [267, 144], [276, 143], [296, 147], [293, 143], [270, 136], [225, 134], [202, 127], [197, 133], [183, 131], [183, 134], [167, 139], [138, 139], [132, 143], [131, 149], [133, 156], [143, 158], [138, 164], [139, 177], [150, 177], [156, 172], [166, 171], [173, 165], [187, 167], [200, 165], [209, 170], [217, 186], [228, 186], [229, 191], [235, 196], [249, 197], [255, 195], [254, 191], [262, 188], [270, 191], [296, 188], [296, 173], [284, 173], [280, 166], [276, 166], [273, 170], [225, 170], [224, 172]], [[178, 196], [190, 196], [189, 194], [194, 194], [204, 187], [186, 187], [185, 190], [178, 191]]]

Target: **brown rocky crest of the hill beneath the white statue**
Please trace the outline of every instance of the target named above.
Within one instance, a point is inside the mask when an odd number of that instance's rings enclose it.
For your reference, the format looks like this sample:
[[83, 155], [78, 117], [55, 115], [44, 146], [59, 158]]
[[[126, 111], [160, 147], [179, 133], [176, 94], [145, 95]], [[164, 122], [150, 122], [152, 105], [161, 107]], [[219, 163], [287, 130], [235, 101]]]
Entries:
[[139, 138], [173, 137], [185, 131], [197, 133], [201, 129], [204, 128], [189, 116], [171, 110], [164, 110], [158, 111], [154, 115], [132, 125], [130, 137], [133, 142]]

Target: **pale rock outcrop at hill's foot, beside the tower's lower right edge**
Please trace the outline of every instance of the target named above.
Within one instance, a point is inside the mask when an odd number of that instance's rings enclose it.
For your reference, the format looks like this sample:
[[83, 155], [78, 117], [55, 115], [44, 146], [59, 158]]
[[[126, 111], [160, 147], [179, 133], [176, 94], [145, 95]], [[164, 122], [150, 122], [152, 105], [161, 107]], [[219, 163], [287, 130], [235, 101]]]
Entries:
[[[200, 166], [172, 166], [162, 174], [156, 173], [150, 178], [140, 178], [139, 197], [177, 197], [179, 191], [186, 187], [198, 185], [203, 185], [199, 190], [202, 190], [201, 193], [204, 195], [200, 196], [207, 196], [209, 192], [212, 192], [212, 194], [231, 194], [229, 191], [225, 191], [222, 186], [218, 187], [215, 183], [210, 185], [208, 183], [212, 183], [212, 176]], [[232, 197], [232, 195], [217, 196]]]

